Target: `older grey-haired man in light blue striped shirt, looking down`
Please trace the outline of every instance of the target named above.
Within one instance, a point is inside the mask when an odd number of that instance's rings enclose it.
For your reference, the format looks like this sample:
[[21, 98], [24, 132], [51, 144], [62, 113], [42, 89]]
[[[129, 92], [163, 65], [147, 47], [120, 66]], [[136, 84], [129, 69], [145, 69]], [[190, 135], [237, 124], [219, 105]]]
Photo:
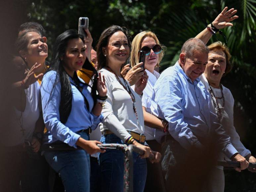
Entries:
[[[205, 152], [214, 135], [217, 135], [217, 143], [227, 157], [239, 161], [241, 169], [248, 167], [248, 162], [238, 154], [218, 123], [207, 98], [208, 92], [198, 78], [207, 65], [208, 52], [201, 40], [187, 40], [182, 46], [179, 61], [162, 72], [153, 88], [151, 110], [169, 122], [170, 135], [165, 142], [168, 146], [162, 166], [167, 171], [167, 187], [173, 191], [179, 191], [179, 182], [183, 179], [179, 178], [176, 165], [179, 161], [186, 161], [186, 154], [191, 149]], [[157, 140], [160, 141], [161, 136], [166, 138], [165, 134], [157, 130]], [[172, 142], [168, 144], [168, 140]]]

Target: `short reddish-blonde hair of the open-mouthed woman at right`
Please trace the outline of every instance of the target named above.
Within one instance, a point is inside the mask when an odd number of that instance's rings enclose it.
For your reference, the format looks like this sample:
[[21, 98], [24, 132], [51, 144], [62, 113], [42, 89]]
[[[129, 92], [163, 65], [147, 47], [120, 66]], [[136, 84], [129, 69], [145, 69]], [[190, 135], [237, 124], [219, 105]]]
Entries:
[[232, 65], [230, 63], [230, 58], [231, 58], [231, 54], [229, 51], [229, 48], [225, 45], [225, 43], [221, 42], [221, 41], [216, 41], [214, 43], [212, 43], [211, 45], [208, 46], [210, 52], [214, 51], [214, 49], [221, 49], [225, 55], [226, 55], [226, 69], [225, 69], [225, 73], [223, 74], [226, 75], [227, 73], [229, 73], [232, 69]]

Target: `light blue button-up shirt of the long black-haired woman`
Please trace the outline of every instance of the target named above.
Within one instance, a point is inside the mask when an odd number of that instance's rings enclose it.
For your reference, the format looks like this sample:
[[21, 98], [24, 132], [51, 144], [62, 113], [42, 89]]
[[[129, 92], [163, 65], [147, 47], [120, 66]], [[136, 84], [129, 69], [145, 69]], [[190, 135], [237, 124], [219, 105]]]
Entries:
[[[97, 125], [102, 121], [103, 116], [95, 116], [91, 110], [93, 108], [93, 98], [90, 94], [90, 87], [84, 84], [80, 84], [82, 94], [89, 103], [89, 111], [86, 109], [84, 98], [80, 91], [76, 88], [74, 81], [70, 78], [72, 89], [72, 108], [68, 120], [65, 124], [60, 121], [60, 95], [61, 95], [61, 83], [59, 81], [59, 75], [57, 72], [47, 72], [42, 79], [41, 84], [41, 98], [42, 98], [42, 110], [45, 127], [48, 132], [45, 134], [44, 143], [52, 143], [60, 140], [69, 144], [72, 147], [77, 147], [76, 142], [80, 137], [77, 131], [82, 129], [96, 129]], [[79, 77], [78, 77], [79, 78]], [[56, 85], [53, 89], [53, 85]], [[79, 78], [81, 82], [84, 82]], [[52, 91], [52, 93], [51, 93]], [[48, 102], [49, 101], [49, 102]]]

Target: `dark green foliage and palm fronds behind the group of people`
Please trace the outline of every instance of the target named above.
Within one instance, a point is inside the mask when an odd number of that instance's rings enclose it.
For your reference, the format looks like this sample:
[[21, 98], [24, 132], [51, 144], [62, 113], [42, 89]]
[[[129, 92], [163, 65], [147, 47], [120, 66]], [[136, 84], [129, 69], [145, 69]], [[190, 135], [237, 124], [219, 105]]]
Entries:
[[[233, 27], [223, 31], [228, 39], [233, 70], [223, 78], [235, 99], [234, 123], [244, 145], [256, 153], [256, 1], [255, 0], [26, 0], [29, 21], [47, 30], [49, 52], [55, 38], [67, 29], [77, 29], [78, 18], [89, 18], [93, 46], [101, 32], [112, 24], [126, 26], [133, 37], [141, 30], [154, 31], [167, 47], [160, 71], [174, 65], [182, 44], [196, 36], [228, 6], [238, 10]], [[218, 36], [220, 40], [221, 36]], [[216, 41], [212, 37], [209, 44]], [[50, 58], [50, 54], [49, 54]], [[256, 174], [226, 171], [225, 191], [256, 191]]]

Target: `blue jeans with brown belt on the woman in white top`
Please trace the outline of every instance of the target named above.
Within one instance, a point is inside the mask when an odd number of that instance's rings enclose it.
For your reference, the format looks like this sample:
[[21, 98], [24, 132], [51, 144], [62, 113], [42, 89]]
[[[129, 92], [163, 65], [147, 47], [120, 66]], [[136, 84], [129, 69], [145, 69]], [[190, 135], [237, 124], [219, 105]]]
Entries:
[[[124, 142], [114, 134], [102, 135], [100, 141], [105, 143]], [[99, 155], [101, 168], [101, 191], [124, 191], [124, 154], [119, 150], [108, 150]], [[146, 159], [141, 159], [133, 153], [133, 191], [143, 192], [147, 176]]]

